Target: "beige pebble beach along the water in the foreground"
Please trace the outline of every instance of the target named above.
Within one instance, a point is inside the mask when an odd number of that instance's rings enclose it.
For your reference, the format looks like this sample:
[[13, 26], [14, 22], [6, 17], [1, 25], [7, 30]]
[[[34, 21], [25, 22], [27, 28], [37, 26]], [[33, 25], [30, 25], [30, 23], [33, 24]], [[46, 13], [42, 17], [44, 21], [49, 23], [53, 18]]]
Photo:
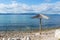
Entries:
[[[1, 31], [0, 40], [58, 40], [55, 37], [56, 30], [42, 32]], [[15, 38], [15, 39], [13, 39]]]

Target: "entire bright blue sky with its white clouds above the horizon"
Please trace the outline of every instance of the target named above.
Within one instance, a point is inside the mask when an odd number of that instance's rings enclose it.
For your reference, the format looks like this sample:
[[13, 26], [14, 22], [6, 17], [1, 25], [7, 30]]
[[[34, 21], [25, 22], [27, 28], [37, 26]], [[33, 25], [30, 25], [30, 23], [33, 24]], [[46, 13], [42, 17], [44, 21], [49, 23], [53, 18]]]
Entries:
[[60, 14], [60, 0], [0, 0], [0, 13]]

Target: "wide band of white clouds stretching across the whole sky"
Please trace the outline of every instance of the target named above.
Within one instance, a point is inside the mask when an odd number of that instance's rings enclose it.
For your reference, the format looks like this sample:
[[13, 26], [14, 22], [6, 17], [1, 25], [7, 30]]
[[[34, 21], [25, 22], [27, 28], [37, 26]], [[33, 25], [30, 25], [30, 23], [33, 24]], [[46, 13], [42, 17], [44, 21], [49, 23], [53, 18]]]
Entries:
[[60, 14], [60, 2], [41, 3], [39, 5], [27, 5], [13, 1], [11, 4], [0, 3], [0, 13], [58, 13]]

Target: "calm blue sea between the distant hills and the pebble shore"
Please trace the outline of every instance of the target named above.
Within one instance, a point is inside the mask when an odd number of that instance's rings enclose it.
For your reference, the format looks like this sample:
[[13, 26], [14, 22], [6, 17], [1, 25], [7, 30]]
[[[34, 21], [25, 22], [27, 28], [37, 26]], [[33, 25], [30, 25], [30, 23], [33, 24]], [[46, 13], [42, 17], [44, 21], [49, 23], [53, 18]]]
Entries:
[[[5, 30], [34, 30], [40, 28], [40, 20], [32, 18], [36, 13], [6, 13], [0, 14], [0, 31]], [[48, 20], [42, 19], [42, 28], [58, 28], [60, 27], [60, 14], [44, 14], [49, 17]]]

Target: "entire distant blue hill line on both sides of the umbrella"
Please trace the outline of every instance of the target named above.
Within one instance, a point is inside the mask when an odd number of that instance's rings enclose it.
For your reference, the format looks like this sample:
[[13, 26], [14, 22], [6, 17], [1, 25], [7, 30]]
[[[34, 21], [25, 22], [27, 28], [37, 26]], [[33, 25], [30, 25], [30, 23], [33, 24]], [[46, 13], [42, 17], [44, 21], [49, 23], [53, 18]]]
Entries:
[[[37, 15], [38, 13], [0, 13], [0, 15]], [[44, 14], [47, 16], [57, 16], [60, 14]]]

